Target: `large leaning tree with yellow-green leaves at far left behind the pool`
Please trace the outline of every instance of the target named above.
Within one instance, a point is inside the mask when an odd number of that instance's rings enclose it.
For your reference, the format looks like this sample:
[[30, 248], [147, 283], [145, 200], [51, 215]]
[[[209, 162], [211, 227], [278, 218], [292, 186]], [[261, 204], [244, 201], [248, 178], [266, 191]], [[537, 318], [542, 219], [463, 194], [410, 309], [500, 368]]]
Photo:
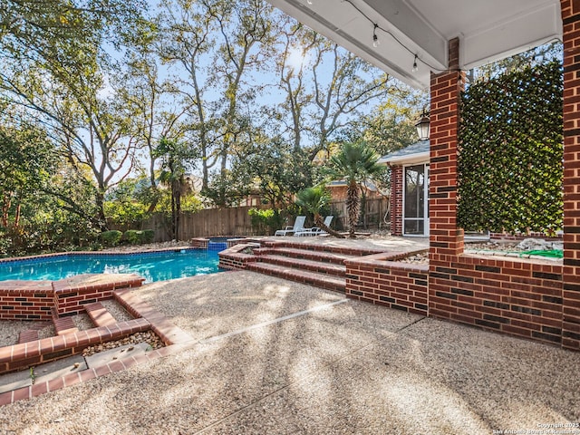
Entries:
[[21, 106], [19, 114], [25, 112], [50, 129], [79, 174], [91, 169], [94, 219], [104, 228], [104, 194], [113, 180], [123, 177], [122, 171], [127, 175], [135, 150], [128, 135], [131, 114], [118, 100], [110, 100], [114, 90], [104, 45], [121, 47], [140, 24], [136, 3], [113, 1], [111, 8], [96, 1], [9, 3], [14, 7], [3, 15], [3, 23], [13, 23], [16, 16], [23, 30], [6, 27], [2, 34], [0, 90]]

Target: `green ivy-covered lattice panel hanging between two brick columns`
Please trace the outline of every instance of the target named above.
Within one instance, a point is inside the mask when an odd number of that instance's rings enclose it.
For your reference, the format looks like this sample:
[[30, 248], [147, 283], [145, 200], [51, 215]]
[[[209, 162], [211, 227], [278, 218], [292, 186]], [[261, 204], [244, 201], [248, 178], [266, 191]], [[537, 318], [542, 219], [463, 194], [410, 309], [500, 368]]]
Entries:
[[461, 96], [458, 220], [467, 230], [563, 225], [560, 63], [507, 73]]

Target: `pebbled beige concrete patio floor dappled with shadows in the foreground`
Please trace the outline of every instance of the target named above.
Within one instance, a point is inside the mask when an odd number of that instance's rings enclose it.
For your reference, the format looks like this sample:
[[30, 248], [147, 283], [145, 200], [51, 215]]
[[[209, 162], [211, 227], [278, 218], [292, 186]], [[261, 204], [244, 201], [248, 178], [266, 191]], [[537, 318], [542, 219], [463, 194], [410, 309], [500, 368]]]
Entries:
[[0, 433], [580, 434], [541, 426], [580, 421], [580, 353], [247, 271], [133, 293], [193, 340], [0, 407]]

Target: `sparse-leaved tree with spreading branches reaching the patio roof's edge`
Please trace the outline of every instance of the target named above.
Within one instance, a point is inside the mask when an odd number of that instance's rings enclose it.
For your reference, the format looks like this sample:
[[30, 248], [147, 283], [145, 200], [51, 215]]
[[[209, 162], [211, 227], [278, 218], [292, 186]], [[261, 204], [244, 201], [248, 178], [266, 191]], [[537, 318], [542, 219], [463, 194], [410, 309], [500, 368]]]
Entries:
[[[286, 123], [295, 147], [312, 161], [328, 151], [373, 102], [397, 89], [394, 80], [352, 53], [293, 20], [284, 24], [277, 61], [285, 92], [276, 119]], [[286, 122], [285, 120], [291, 120]]]

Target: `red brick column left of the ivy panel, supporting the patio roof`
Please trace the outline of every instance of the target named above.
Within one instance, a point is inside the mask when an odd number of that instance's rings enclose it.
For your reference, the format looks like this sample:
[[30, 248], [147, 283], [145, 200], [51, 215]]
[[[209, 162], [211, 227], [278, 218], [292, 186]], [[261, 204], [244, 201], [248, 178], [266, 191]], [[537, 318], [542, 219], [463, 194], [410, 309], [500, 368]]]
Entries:
[[455, 38], [449, 41], [449, 71], [431, 73], [430, 82], [430, 260], [435, 261], [463, 253], [456, 198], [459, 98], [464, 82], [459, 38]]

